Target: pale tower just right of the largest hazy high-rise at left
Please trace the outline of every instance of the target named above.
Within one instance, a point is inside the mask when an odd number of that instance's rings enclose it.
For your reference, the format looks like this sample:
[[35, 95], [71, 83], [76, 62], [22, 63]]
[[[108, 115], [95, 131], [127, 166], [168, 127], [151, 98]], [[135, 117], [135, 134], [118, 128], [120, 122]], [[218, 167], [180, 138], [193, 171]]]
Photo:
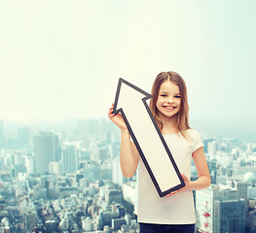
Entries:
[[72, 145], [65, 146], [61, 151], [63, 173], [74, 173], [78, 170], [78, 152]]

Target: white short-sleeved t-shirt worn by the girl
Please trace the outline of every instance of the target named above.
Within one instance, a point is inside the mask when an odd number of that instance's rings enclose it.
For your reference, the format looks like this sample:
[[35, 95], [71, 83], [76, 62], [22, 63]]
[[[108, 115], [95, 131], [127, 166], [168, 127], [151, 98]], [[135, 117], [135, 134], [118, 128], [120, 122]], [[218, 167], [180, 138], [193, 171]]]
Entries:
[[[198, 131], [188, 129], [185, 139], [180, 133], [163, 135], [181, 174], [191, 178], [192, 153], [202, 147]], [[157, 156], [157, 154], [156, 154]], [[160, 197], [141, 158], [138, 171], [138, 222], [157, 224], [193, 224], [196, 222], [192, 191]]]

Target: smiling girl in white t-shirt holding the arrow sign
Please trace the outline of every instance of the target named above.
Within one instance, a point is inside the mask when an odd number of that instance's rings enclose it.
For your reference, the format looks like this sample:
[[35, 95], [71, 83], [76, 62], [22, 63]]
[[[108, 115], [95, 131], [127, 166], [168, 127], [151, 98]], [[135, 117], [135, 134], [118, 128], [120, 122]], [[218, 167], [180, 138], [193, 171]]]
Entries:
[[[201, 136], [189, 126], [189, 106], [184, 80], [175, 72], [160, 73], [152, 86], [150, 109], [169, 150], [179, 168], [185, 186], [161, 198], [130, 142], [127, 125], [121, 114], [109, 118], [121, 129], [120, 164], [123, 175], [132, 177], [138, 172], [138, 222], [141, 233], [195, 232], [195, 207], [192, 190], [209, 186], [210, 176], [202, 149]], [[158, 154], [156, 154], [158, 156]], [[191, 159], [194, 159], [199, 179], [190, 181]]]

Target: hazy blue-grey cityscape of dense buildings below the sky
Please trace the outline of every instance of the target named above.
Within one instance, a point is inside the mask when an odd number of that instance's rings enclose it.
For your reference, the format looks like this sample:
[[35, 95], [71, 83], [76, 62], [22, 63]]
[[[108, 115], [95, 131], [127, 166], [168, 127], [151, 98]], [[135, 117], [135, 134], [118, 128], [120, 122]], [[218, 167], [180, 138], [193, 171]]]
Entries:
[[[194, 192], [197, 232], [255, 233], [256, 143], [202, 139], [212, 184]], [[0, 232], [139, 232], [109, 119], [1, 120], [0, 142]]]

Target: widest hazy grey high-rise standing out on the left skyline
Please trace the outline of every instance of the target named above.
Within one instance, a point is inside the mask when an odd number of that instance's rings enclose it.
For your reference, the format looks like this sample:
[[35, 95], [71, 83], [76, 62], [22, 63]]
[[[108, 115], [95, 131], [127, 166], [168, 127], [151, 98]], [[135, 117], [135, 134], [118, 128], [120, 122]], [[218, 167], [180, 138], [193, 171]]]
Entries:
[[49, 172], [49, 163], [59, 157], [58, 136], [52, 132], [40, 132], [34, 137], [35, 173]]

